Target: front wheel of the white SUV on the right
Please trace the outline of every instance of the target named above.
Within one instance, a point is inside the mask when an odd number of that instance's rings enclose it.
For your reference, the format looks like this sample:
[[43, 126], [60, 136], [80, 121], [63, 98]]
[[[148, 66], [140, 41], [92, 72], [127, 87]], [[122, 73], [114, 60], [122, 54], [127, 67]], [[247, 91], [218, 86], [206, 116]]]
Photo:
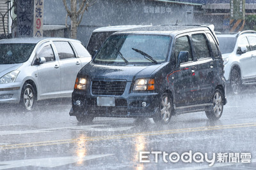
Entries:
[[241, 91], [241, 76], [237, 69], [232, 69], [230, 74], [230, 90], [232, 94], [239, 94]]

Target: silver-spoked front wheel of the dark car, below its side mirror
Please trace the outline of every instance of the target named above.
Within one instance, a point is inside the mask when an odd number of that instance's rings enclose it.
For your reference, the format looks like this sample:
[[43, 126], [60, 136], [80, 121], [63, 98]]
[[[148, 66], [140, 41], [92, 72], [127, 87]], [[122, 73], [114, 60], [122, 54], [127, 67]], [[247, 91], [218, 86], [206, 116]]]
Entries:
[[167, 93], [164, 93], [161, 97], [161, 103], [159, 111], [153, 117], [156, 124], [168, 124], [172, 117], [172, 100]]

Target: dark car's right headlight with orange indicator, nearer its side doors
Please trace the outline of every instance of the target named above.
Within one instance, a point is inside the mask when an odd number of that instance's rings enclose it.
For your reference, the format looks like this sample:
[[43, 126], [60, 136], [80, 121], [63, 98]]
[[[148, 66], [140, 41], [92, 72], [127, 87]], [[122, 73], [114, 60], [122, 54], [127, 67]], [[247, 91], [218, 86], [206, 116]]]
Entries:
[[152, 78], [137, 79], [133, 86], [134, 91], [155, 90], [155, 80]]

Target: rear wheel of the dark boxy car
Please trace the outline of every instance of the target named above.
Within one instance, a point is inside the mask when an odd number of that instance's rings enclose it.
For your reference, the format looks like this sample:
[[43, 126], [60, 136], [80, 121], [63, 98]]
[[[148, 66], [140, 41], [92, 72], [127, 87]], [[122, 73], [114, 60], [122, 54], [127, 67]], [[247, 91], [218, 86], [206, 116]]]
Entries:
[[216, 89], [212, 98], [212, 106], [205, 111], [205, 115], [209, 120], [218, 120], [223, 113], [223, 94], [221, 90]]

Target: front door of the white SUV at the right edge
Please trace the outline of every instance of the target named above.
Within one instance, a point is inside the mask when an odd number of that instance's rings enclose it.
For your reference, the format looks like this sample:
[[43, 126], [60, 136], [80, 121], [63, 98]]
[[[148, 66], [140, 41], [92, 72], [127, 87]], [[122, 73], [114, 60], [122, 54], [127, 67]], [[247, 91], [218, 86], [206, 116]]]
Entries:
[[247, 48], [247, 52], [237, 54], [241, 66], [242, 79], [253, 78], [256, 72], [254, 57], [255, 51], [253, 52], [251, 50], [250, 44], [246, 36], [237, 40], [237, 46], [238, 48], [241, 48], [241, 46], [246, 46]]

